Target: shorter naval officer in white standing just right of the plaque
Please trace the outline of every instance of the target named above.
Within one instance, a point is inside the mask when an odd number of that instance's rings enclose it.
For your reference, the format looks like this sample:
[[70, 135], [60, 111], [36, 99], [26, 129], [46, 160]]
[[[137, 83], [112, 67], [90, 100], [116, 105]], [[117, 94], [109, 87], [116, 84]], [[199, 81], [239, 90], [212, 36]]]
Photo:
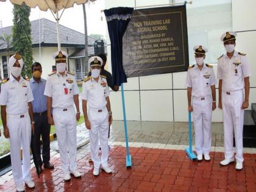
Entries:
[[[197, 160], [210, 160], [212, 144], [212, 111], [216, 108], [215, 74], [213, 66], [204, 63], [207, 49], [194, 46], [196, 65], [188, 69], [186, 87], [188, 88], [188, 110], [193, 112], [195, 146]], [[191, 101], [192, 99], [192, 101]]]

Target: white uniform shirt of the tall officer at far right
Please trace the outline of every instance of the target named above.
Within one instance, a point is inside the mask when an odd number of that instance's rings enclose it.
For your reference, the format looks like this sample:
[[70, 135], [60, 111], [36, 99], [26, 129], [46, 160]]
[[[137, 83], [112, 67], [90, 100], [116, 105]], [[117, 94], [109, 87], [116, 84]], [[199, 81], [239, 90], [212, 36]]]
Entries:
[[224, 54], [218, 60], [217, 78], [222, 79], [222, 90], [243, 90], [244, 77], [249, 76], [251, 76], [251, 71], [246, 56], [235, 51], [231, 59]]

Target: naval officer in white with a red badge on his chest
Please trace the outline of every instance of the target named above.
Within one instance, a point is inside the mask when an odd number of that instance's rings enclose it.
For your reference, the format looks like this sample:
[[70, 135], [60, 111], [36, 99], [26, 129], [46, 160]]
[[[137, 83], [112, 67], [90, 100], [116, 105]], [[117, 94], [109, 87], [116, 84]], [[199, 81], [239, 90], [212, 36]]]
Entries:
[[[79, 121], [79, 90], [74, 74], [66, 71], [68, 54], [64, 51], [53, 55], [57, 72], [49, 74], [44, 95], [47, 96], [47, 112], [49, 124], [55, 124], [57, 141], [62, 162], [63, 179], [80, 177], [76, 162], [76, 121]], [[74, 108], [76, 105], [76, 110]], [[70, 170], [70, 172], [69, 172]]]

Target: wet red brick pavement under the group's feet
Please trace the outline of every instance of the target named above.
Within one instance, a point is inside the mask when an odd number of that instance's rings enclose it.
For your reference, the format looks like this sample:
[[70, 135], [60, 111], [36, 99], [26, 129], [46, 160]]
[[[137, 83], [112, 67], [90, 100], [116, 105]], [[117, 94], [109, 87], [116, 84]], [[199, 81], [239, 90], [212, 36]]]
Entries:
[[[221, 152], [211, 152], [210, 162], [191, 162], [185, 151], [130, 148], [132, 168], [126, 169], [126, 148], [111, 148], [109, 158], [112, 174], [100, 172], [93, 176], [89, 155], [78, 160], [80, 179], [63, 182], [59, 158], [52, 158], [54, 171], [44, 170], [35, 188], [26, 191], [256, 191], [256, 154], [244, 154], [244, 169], [235, 165], [220, 166]], [[0, 186], [2, 191], [15, 191], [13, 180]]]

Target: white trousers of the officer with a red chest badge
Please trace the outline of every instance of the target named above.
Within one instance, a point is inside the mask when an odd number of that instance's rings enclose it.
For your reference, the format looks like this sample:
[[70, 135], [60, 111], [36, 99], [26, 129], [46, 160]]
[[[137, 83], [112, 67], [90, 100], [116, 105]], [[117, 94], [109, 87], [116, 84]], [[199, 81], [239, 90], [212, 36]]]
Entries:
[[62, 170], [64, 173], [68, 172], [69, 168], [74, 171], [77, 169], [76, 112], [74, 107], [71, 106], [66, 111], [63, 111], [63, 108], [54, 108], [52, 116], [54, 118]]

